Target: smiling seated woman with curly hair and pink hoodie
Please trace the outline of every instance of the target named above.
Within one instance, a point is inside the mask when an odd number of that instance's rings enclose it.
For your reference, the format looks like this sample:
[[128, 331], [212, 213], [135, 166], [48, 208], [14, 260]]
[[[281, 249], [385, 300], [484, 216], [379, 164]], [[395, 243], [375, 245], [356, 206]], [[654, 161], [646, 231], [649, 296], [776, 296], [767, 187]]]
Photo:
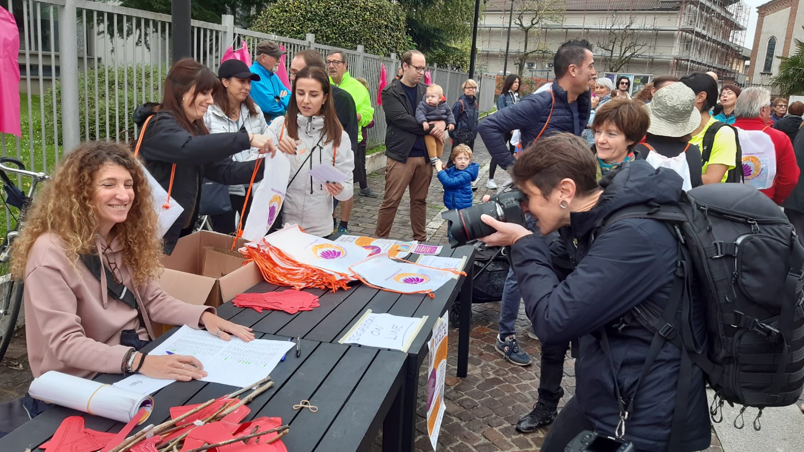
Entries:
[[138, 352], [154, 339], [151, 321], [206, 327], [222, 340], [254, 339], [250, 328], [219, 318], [214, 308], [179, 301], [159, 287], [157, 224], [145, 170], [125, 146], [88, 142], [67, 154], [35, 196], [12, 255], [13, 276], [25, 280], [35, 377], [47, 371], [206, 376], [193, 356]]

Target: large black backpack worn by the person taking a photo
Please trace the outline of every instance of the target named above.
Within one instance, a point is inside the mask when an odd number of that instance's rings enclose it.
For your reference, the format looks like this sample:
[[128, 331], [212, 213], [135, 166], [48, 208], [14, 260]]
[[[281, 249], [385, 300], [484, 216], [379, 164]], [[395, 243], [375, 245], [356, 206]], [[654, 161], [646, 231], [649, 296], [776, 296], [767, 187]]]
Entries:
[[[758, 430], [762, 409], [798, 401], [804, 386], [804, 247], [776, 203], [748, 185], [716, 183], [687, 191], [678, 204], [621, 209], [597, 232], [626, 218], [662, 220], [679, 240], [667, 307], [643, 302], [615, 326], [636, 320], [654, 331], [642, 377], [664, 341], [683, 351], [669, 450], [683, 436], [691, 363], [716, 392], [712, 421], [722, 421], [724, 402], [752, 406], [759, 408]], [[689, 322], [695, 284], [706, 308], [706, 347], [695, 343]], [[681, 325], [675, 322], [679, 304]], [[737, 420], [735, 426], [742, 428]]]

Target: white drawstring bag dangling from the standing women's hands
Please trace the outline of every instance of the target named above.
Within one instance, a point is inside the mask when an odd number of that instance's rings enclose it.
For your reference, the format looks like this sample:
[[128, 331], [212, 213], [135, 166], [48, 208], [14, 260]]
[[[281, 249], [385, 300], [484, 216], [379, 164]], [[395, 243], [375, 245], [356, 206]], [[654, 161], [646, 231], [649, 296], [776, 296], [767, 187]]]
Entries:
[[252, 242], [264, 237], [277, 220], [288, 190], [290, 162], [284, 154], [277, 152], [273, 158], [263, 160], [262, 170], [263, 179], [254, 191], [248, 207], [248, 220], [243, 227], [243, 238]]

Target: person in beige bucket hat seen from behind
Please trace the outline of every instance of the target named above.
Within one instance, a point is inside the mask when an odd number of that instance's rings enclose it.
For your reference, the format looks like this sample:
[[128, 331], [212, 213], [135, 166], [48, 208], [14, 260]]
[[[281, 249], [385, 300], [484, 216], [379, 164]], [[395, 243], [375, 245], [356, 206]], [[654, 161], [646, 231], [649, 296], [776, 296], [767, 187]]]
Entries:
[[637, 147], [640, 156], [654, 167], [675, 170], [687, 190], [703, 185], [701, 152], [690, 143], [691, 133], [700, 124], [695, 92], [685, 84], [671, 84], [658, 90], [646, 109], [650, 126], [645, 142]]

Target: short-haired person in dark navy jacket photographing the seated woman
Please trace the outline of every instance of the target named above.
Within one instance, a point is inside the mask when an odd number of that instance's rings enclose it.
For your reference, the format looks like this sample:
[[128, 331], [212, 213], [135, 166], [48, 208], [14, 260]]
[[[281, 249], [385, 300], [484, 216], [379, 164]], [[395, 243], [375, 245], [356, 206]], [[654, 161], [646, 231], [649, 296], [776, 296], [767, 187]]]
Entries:
[[[674, 438], [680, 446], [673, 452], [704, 450], [711, 439], [704, 373], [693, 364], [687, 398], [676, 401], [679, 348], [662, 343], [646, 366], [654, 333], [635, 321], [613, 327], [642, 302], [664, 308], [678, 301], [670, 298], [679, 244], [658, 220], [605, 220], [631, 206], [674, 203], [683, 181], [674, 171], [637, 160], [598, 184], [597, 166], [587, 143], [576, 136], [539, 140], [520, 155], [512, 178], [523, 191], [523, 211], [538, 219], [541, 234], [481, 217], [496, 230], [482, 241], [511, 246], [514, 273], [539, 338], [548, 345], [580, 338], [576, 394], [541, 450], [563, 451], [585, 430], [595, 430], [617, 434], [640, 452], [662, 452], [668, 450], [674, 419], [683, 426], [683, 438]], [[555, 231], [560, 240], [548, 244], [544, 236]], [[563, 274], [553, 259], [570, 261], [574, 269]], [[699, 303], [692, 306], [684, 321], [704, 343], [704, 312]], [[681, 322], [679, 310], [675, 323]]]

